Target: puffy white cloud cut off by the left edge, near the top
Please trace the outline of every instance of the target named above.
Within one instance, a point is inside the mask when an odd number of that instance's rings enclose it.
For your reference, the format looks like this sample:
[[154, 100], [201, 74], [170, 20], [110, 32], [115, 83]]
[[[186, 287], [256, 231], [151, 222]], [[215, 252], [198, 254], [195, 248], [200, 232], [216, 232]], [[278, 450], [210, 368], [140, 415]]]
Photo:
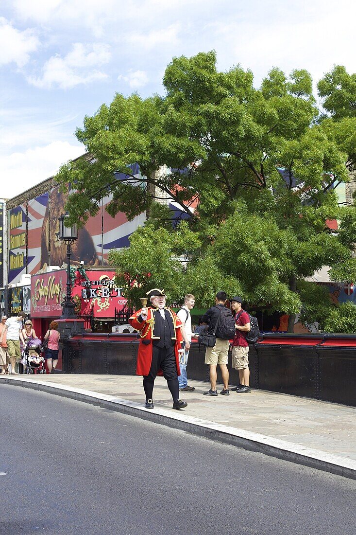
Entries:
[[0, 17], [0, 65], [14, 62], [18, 67], [23, 67], [28, 62], [30, 53], [36, 51], [39, 44], [34, 30], [20, 32]]

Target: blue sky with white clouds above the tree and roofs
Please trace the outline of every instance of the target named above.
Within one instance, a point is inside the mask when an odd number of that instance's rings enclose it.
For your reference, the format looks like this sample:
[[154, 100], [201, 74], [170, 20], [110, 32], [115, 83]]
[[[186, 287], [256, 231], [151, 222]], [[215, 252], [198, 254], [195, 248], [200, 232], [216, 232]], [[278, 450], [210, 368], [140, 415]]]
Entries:
[[0, 198], [85, 152], [75, 129], [115, 93], [164, 95], [175, 56], [221, 71], [356, 72], [351, 0], [0, 0]]

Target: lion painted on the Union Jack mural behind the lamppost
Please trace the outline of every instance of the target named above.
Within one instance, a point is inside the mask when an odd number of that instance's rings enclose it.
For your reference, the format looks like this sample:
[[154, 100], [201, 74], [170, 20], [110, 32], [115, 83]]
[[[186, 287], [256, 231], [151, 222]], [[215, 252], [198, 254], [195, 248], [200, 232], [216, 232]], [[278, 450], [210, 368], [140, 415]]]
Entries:
[[[50, 218], [48, 213], [43, 219], [41, 236], [41, 269], [45, 264], [62, 266], [67, 262], [67, 246], [59, 240], [58, 218], [65, 213], [65, 203], [68, 194], [59, 191], [59, 188], [51, 191]], [[50, 251], [49, 251], [49, 243]], [[94, 242], [85, 228], [78, 230], [78, 240], [72, 245], [71, 264], [79, 265], [83, 261], [86, 266], [99, 265], [99, 258], [96, 254]]]

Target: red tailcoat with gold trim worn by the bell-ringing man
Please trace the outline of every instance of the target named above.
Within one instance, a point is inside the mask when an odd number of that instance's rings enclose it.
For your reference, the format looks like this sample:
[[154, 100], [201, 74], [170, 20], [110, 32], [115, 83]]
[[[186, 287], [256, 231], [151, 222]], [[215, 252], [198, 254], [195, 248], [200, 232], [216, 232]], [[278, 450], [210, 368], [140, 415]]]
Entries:
[[[147, 311], [147, 319], [140, 321], [139, 316], [141, 315], [141, 309], [135, 312], [133, 316], [129, 318], [129, 324], [131, 327], [134, 327], [136, 331], [140, 333], [140, 345], [138, 346], [138, 355], [137, 355], [137, 366], [136, 366], [136, 375], [149, 375], [151, 363], [152, 363], [152, 336], [153, 336], [153, 327], [154, 327], [154, 317], [153, 317], [153, 311], [157, 309], [153, 309], [151, 307], [148, 308]], [[166, 310], [171, 314], [173, 319], [173, 326], [174, 326], [174, 332], [175, 332], [175, 343], [174, 343], [174, 354], [175, 354], [175, 362], [177, 366], [177, 374], [181, 375], [180, 367], [179, 367], [179, 356], [178, 356], [178, 349], [181, 349], [182, 347], [182, 333], [180, 327], [182, 326], [182, 322], [179, 319], [179, 317], [173, 312], [173, 310], [166, 308]], [[148, 344], [144, 344], [143, 340], [150, 340]], [[162, 371], [159, 370], [158, 375], [162, 375]]]

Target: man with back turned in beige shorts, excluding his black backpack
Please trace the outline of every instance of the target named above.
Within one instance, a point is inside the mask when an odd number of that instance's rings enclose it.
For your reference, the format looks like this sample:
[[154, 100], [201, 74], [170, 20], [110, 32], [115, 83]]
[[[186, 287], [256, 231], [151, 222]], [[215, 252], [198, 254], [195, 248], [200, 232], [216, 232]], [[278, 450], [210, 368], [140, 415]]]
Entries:
[[[202, 317], [202, 322], [208, 325], [207, 334], [213, 335], [215, 325], [220, 321], [221, 311], [225, 308], [225, 303], [227, 300], [226, 292], [218, 292], [215, 297], [215, 306], [208, 309], [204, 316]], [[232, 315], [231, 315], [232, 318]], [[216, 342], [214, 347], [207, 347], [205, 351], [205, 364], [209, 365], [209, 377], [211, 388], [207, 392], [204, 392], [205, 396], [217, 396], [218, 392], [216, 391], [216, 379], [218, 378], [216, 374], [216, 366], [219, 364], [222, 380], [223, 380], [223, 389], [220, 394], [228, 396], [229, 393], [229, 370], [227, 369], [228, 362], [228, 353], [230, 348], [229, 340], [225, 340], [221, 337], [221, 332], [219, 331], [219, 325], [216, 329]]]

